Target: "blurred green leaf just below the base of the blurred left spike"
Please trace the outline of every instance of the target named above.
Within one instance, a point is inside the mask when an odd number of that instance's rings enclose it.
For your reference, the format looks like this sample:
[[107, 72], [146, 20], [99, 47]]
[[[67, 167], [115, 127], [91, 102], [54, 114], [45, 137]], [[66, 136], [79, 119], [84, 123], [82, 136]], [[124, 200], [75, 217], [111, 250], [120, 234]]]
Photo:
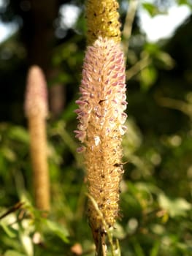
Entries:
[[61, 240], [63, 240], [65, 243], [69, 243], [69, 240], [67, 238], [67, 236], [69, 236], [69, 232], [68, 230], [66, 230], [65, 227], [59, 225], [56, 222], [52, 222], [48, 219], [45, 219], [45, 225], [49, 231], [51, 231], [56, 236], [61, 238]]

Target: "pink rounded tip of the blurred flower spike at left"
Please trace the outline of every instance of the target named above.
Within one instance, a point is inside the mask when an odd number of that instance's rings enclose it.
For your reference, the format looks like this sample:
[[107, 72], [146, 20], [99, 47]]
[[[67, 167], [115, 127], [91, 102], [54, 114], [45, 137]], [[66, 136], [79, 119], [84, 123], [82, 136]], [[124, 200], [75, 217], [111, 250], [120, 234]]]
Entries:
[[24, 110], [26, 117], [47, 117], [47, 83], [38, 66], [32, 66], [28, 70]]

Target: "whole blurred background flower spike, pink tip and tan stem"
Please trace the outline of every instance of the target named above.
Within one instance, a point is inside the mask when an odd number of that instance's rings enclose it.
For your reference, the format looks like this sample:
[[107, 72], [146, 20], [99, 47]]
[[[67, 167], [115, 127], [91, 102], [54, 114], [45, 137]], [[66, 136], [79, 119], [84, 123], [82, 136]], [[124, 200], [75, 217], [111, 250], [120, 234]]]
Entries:
[[28, 71], [24, 108], [30, 134], [35, 204], [40, 210], [49, 211], [50, 181], [46, 138], [47, 85], [42, 69], [37, 66], [32, 66]]

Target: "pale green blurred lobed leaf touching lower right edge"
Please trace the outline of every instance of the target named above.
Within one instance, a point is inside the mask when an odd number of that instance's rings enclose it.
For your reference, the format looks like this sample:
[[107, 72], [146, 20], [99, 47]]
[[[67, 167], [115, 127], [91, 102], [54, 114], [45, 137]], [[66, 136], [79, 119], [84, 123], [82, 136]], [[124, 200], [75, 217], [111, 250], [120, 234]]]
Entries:
[[191, 203], [188, 203], [184, 198], [178, 197], [171, 199], [164, 194], [158, 196], [159, 205], [165, 209], [170, 217], [185, 217], [186, 211], [191, 209]]

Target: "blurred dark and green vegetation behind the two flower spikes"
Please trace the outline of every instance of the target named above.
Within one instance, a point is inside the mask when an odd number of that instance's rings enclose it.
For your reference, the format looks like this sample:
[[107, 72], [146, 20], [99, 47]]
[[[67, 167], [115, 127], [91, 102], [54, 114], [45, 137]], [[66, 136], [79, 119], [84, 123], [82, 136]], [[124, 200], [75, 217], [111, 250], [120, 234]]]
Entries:
[[[141, 1], [150, 15], [170, 1]], [[78, 10], [73, 26], [61, 8]], [[0, 255], [94, 255], [86, 217], [85, 173], [73, 130], [85, 52], [83, 1], [10, 0], [1, 20], [18, 30], [0, 45]], [[188, 4], [190, 0], [177, 0]], [[128, 1], [120, 1], [124, 24]], [[192, 20], [172, 38], [149, 43], [136, 15], [129, 40], [128, 132], [123, 150], [120, 218], [123, 256], [192, 255]], [[52, 206], [34, 208], [23, 98], [31, 64], [44, 70]]]

